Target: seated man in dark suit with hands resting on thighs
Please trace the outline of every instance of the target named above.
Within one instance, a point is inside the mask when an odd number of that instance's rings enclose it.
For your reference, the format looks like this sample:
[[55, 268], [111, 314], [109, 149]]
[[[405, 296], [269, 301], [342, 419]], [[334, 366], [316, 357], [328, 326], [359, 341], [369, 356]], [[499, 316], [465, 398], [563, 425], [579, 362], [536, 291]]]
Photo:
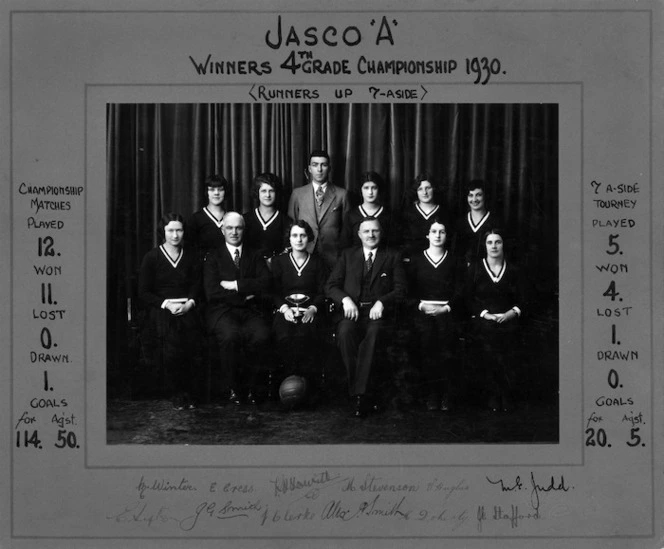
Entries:
[[406, 295], [406, 274], [399, 253], [379, 248], [381, 226], [365, 217], [358, 236], [361, 247], [347, 248], [327, 281], [326, 294], [338, 309], [337, 345], [346, 366], [353, 415], [363, 417], [370, 407], [367, 393], [376, 341]]

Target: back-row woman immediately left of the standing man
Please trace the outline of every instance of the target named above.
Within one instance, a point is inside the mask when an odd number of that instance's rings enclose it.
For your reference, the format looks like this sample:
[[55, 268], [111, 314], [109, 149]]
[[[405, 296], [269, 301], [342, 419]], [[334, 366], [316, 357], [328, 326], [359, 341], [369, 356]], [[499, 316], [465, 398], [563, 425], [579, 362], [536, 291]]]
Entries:
[[281, 181], [272, 173], [262, 173], [254, 179], [252, 197], [258, 207], [243, 215], [244, 240], [258, 250], [270, 265], [272, 258], [284, 251], [289, 218], [279, 211]]

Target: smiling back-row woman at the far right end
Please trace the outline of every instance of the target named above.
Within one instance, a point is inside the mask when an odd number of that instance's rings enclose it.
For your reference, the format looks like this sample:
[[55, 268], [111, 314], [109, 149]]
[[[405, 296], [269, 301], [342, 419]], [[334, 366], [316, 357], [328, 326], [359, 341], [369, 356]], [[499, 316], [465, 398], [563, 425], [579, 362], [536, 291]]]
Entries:
[[466, 185], [468, 212], [457, 220], [454, 228], [455, 256], [463, 258], [466, 266], [475, 265], [484, 256], [482, 235], [489, 227], [503, 227], [496, 214], [487, 209], [484, 181], [474, 179]]

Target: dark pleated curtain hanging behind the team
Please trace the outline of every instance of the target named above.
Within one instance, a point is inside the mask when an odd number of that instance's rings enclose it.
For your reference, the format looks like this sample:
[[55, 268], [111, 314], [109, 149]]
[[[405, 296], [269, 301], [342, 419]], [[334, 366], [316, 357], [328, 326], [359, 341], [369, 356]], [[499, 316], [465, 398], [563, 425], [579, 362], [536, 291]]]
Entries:
[[128, 299], [143, 255], [167, 211], [200, 209], [210, 174], [231, 183], [229, 209], [247, 211], [251, 181], [306, 182], [308, 154], [331, 157], [331, 180], [351, 191], [365, 170], [387, 183], [398, 211], [414, 176], [434, 174], [454, 216], [463, 185], [488, 184], [489, 206], [518, 236], [519, 261], [540, 293], [558, 285], [558, 105], [556, 104], [112, 104], [107, 109], [108, 358], [126, 356]]

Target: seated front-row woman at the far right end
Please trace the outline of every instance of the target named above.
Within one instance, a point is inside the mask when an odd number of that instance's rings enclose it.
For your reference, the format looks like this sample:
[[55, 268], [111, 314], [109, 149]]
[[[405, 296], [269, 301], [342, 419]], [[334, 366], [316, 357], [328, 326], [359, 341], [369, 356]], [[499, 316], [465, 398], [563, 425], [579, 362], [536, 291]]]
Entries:
[[493, 228], [484, 233], [485, 257], [470, 277], [473, 324], [489, 385], [489, 409], [507, 412], [512, 406], [514, 351], [521, 315], [527, 308], [526, 283], [519, 269], [507, 262], [504, 231]]

